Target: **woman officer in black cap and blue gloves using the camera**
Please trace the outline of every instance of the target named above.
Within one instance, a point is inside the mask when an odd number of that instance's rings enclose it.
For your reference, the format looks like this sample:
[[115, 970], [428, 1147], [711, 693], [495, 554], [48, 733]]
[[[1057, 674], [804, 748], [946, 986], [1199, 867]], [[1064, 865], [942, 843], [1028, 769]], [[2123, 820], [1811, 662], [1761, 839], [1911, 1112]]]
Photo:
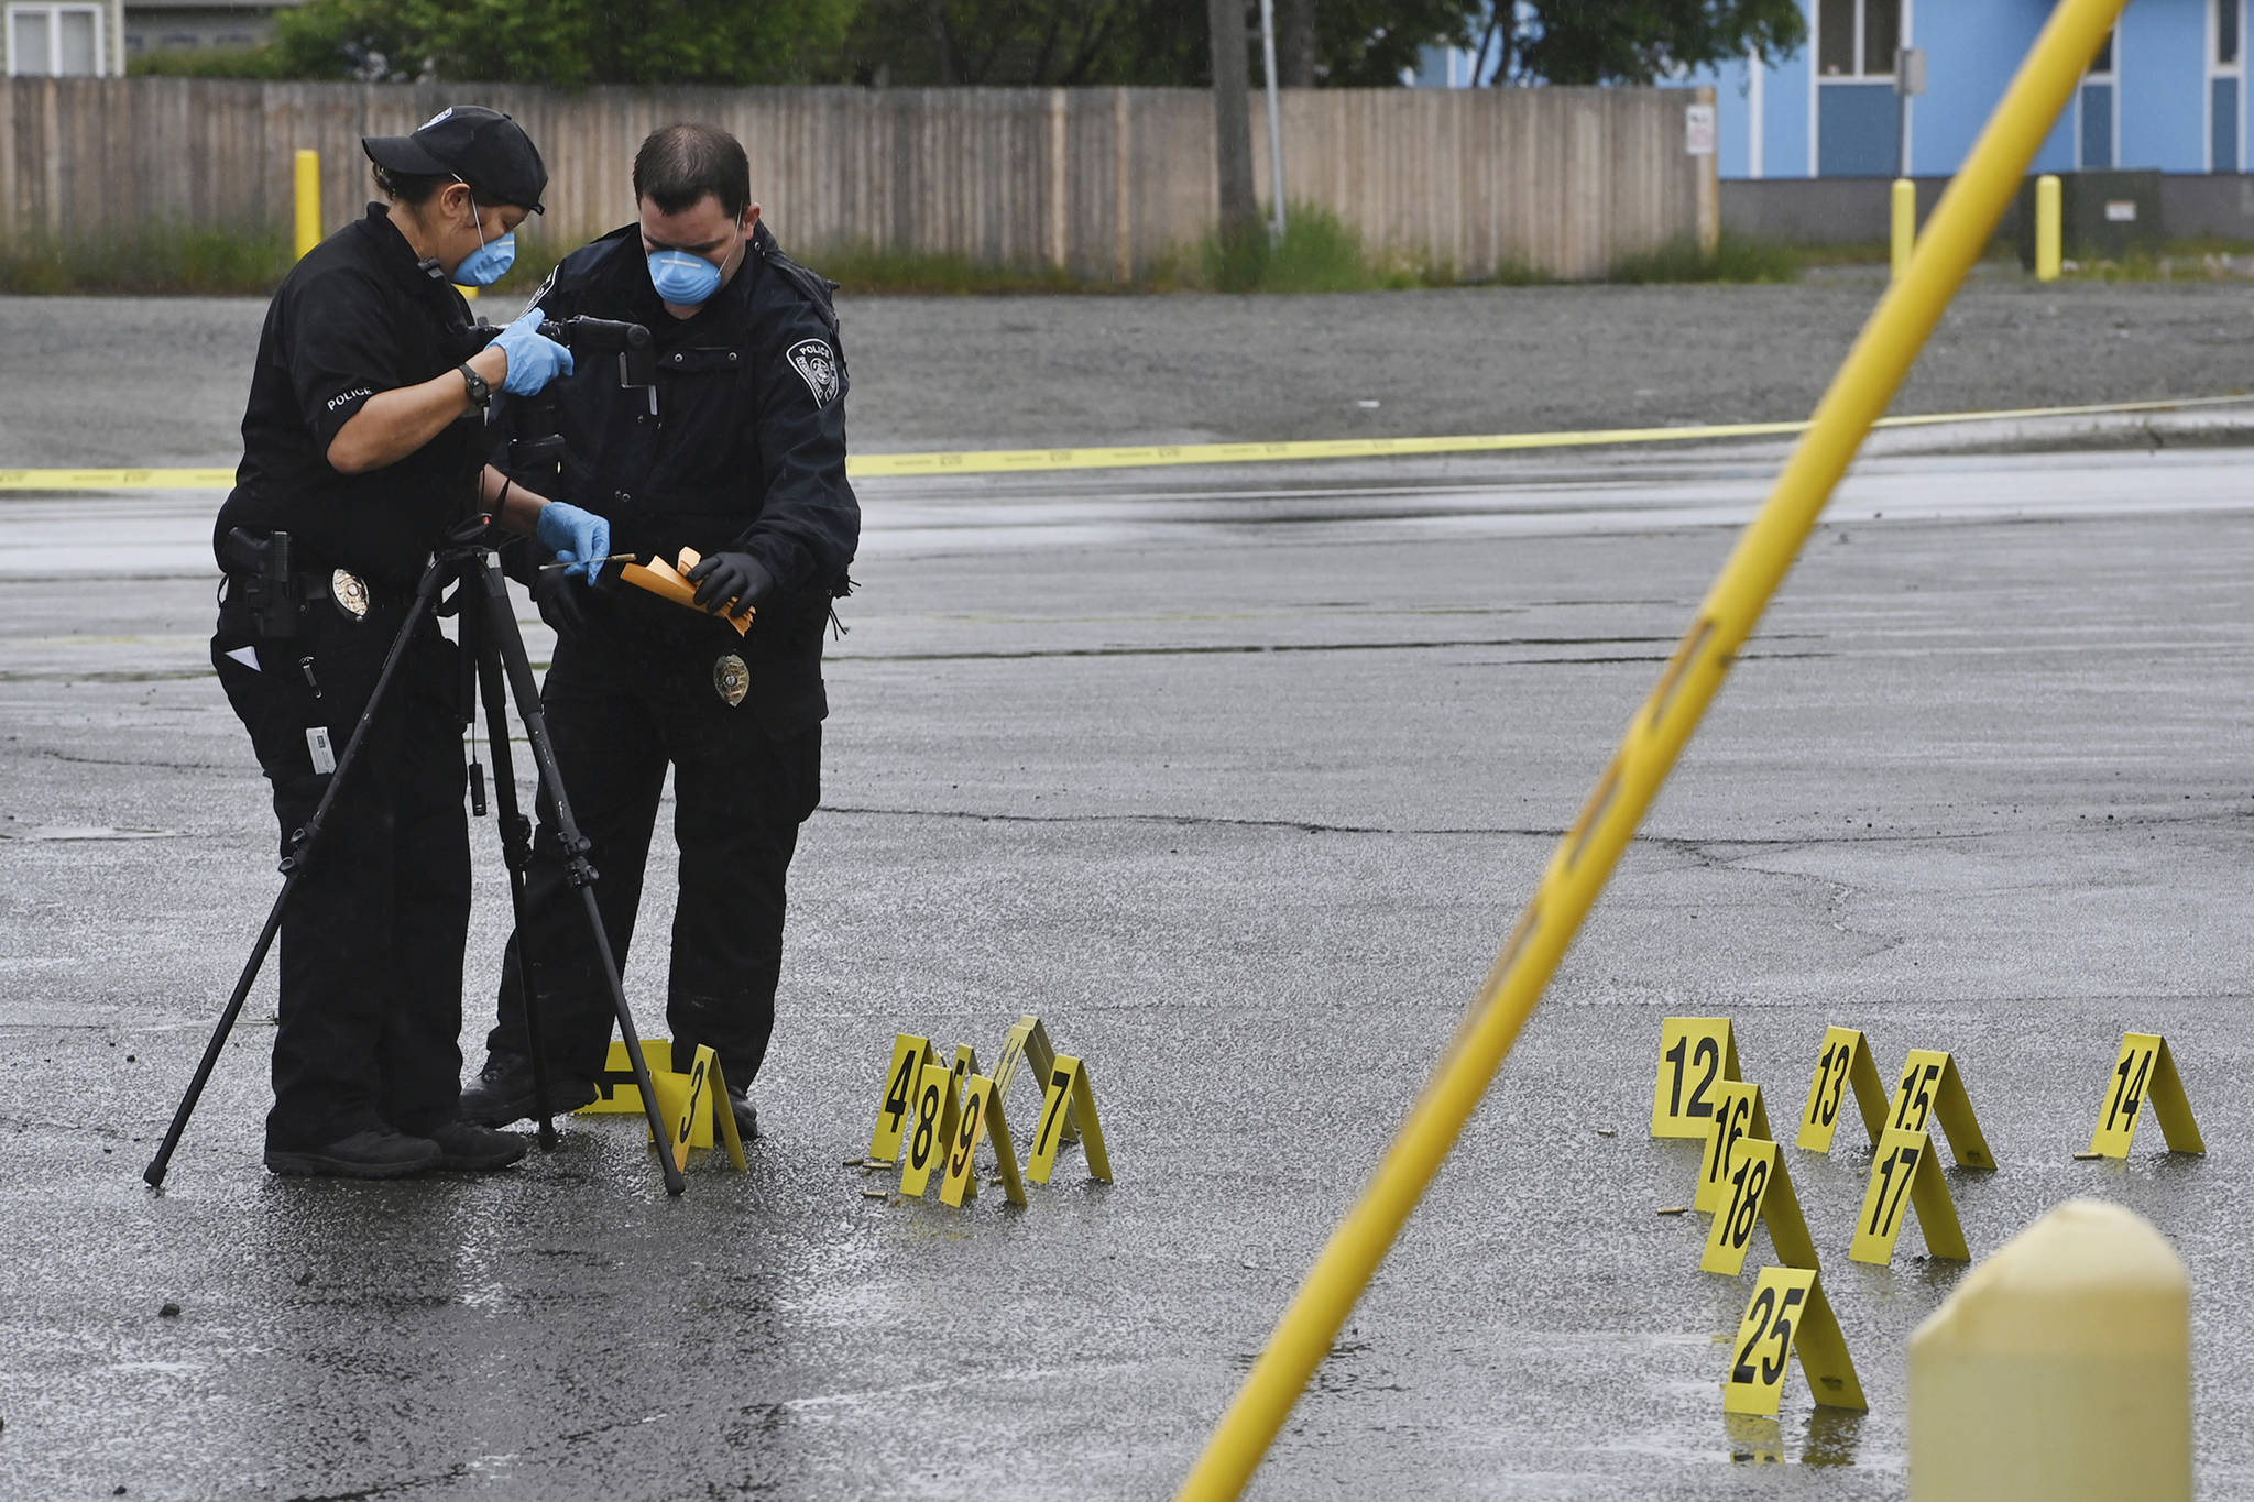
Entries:
[[[243, 464], [214, 543], [212, 664], [273, 784], [284, 849], [327, 788], [433, 545], [476, 511], [566, 561], [600, 518], [482, 464], [496, 387], [532, 394], [570, 351], [518, 320], [471, 354], [453, 284], [489, 284], [548, 169], [507, 115], [458, 106], [361, 142], [388, 203], [313, 248], [259, 336]], [[469, 356], [464, 360], [464, 356]], [[286, 538], [286, 543], [284, 543]], [[593, 563], [584, 563], [593, 570]], [[500, 1169], [521, 1137], [458, 1119], [469, 829], [462, 676], [426, 619], [282, 917], [266, 1117], [275, 1173]]]

